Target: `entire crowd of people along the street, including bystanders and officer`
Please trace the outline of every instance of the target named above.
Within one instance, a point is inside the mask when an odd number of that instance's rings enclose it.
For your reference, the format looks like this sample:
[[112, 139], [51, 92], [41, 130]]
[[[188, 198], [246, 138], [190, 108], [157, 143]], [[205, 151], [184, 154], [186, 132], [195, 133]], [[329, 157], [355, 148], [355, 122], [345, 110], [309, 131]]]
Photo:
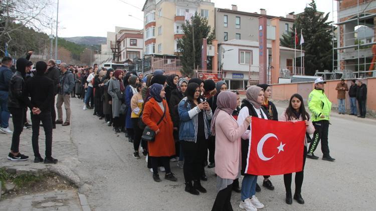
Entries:
[[[324, 93], [325, 81], [321, 78], [316, 79], [315, 89], [308, 99], [312, 116], [305, 109], [303, 97], [297, 93], [278, 115], [276, 106], [269, 100], [272, 89], [268, 84], [248, 87], [246, 97], [241, 101], [238, 92], [228, 91], [225, 81], [216, 83], [211, 79], [203, 81], [189, 76], [165, 75], [163, 70], [143, 75], [142, 72], [98, 68], [97, 65], [78, 67], [61, 63], [58, 66], [51, 59], [48, 63], [38, 61], [36, 71], [27, 78], [31, 69], [28, 59], [18, 59], [15, 72], [11, 66], [12, 59], [3, 58], [0, 68], [1, 129], [13, 133], [10, 160], [28, 159], [19, 152], [19, 142], [23, 128], [27, 128], [25, 113], [29, 108], [34, 162], [56, 163], [57, 159], [51, 155], [52, 131], [56, 124], [70, 124], [70, 98], [76, 96], [83, 100], [83, 110], [92, 109], [93, 115], [104, 119], [114, 132], [125, 133], [133, 144], [133, 157], [140, 158], [140, 152], [145, 156], [154, 181], [161, 181], [159, 172], [165, 172], [164, 179], [177, 181], [170, 167], [171, 163], [176, 163], [183, 171], [185, 191], [199, 195], [207, 192], [201, 182], [208, 180], [205, 167], [215, 167], [218, 193], [212, 210], [232, 210], [232, 191], [241, 194], [240, 208], [257, 210], [264, 207], [256, 196], [256, 192], [261, 191], [258, 175], [245, 171], [246, 166], [254, 164], [247, 158], [251, 116], [275, 121], [305, 121], [303, 169], [306, 157], [318, 158], [313, 152], [320, 140], [322, 159], [335, 160], [329, 155], [327, 139], [331, 102]], [[338, 91], [347, 90], [342, 82], [337, 86]], [[356, 91], [352, 86], [349, 95], [359, 101], [360, 116], [363, 116], [365, 109], [360, 105], [364, 86], [359, 84]], [[14, 132], [8, 131], [9, 116], [6, 119], [5, 112], [8, 109], [13, 114]], [[351, 108], [351, 113], [355, 114], [356, 110]], [[46, 135], [44, 159], [38, 146], [40, 122]], [[283, 175], [287, 204], [291, 204], [293, 198], [304, 203], [301, 196], [303, 174], [303, 170], [295, 174], [294, 195], [292, 173]], [[243, 175], [241, 186], [240, 175]], [[270, 175], [263, 177], [263, 186], [273, 190]]]

